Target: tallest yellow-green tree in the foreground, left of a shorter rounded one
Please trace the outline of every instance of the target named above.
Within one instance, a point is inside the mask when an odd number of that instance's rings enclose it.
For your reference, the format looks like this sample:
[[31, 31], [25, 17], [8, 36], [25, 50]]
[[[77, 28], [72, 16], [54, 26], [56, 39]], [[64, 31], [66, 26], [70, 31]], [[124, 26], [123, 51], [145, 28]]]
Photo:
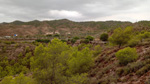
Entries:
[[58, 39], [53, 39], [48, 47], [43, 47], [42, 44], [36, 47], [31, 65], [36, 70], [34, 76], [39, 83], [56, 84], [61, 81], [58, 77], [64, 67], [60, 55], [67, 50], [69, 46]]

